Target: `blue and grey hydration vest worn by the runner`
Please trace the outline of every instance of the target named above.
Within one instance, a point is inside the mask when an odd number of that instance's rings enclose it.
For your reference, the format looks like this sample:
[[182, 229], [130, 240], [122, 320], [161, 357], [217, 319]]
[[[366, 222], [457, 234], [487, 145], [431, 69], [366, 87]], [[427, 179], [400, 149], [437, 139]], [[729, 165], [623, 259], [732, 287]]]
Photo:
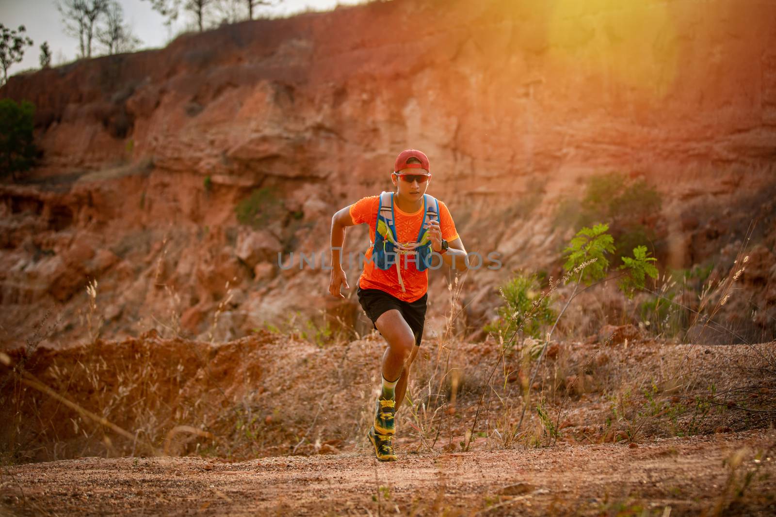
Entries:
[[431, 239], [428, 237], [428, 222], [439, 220], [439, 202], [428, 194], [423, 195], [423, 222], [414, 243], [402, 244], [396, 239], [396, 224], [393, 217], [393, 192], [380, 194], [377, 208], [375, 242], [372, 245], [372, 262], [380, 270], [387, 271], [396, 265], [401, 290], [404, 281], [401, 278], [400, 256], [414, 255], [417, 271], [425, 271], [431, 264]]

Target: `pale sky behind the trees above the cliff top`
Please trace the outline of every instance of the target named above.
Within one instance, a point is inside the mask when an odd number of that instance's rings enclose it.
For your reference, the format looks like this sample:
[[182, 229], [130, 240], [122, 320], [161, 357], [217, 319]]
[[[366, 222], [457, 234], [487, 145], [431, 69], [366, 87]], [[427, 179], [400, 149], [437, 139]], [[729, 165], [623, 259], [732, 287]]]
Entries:
[[[134, 35], [143, 41], [138, 50], [165, 47], [193, 21], [188, 13], [182, 13], [178, 21], [168, 27], [165, 26], [165, 19], [151, 9], [151, 3], [147, 0], [118, 0], [118, 2], [123, 7], [124, 17], [132, 26]], [[258, 6], [255, 8], [254, 17], [286, 16], [308, 9], [327, 10], [334, 9], [338, 4], [351, 5], [362, 2], [363, 0], [282, 0], [274, 7]], [[55, 0], [0, 0], [0, 23], [14, 30], [20, 25], [25, 26], [26, 35], [34, 42], [33, 47], [26, 47], [23, 61], [9, 68], [9, 76], [29, 68], [39, 68], [40, 44], [44, 41], [49, 44], [54, 65], [74, 60], [78, 53], [78, 39], [67, 36], [63, 32], [64, 23], [57, 11]], [[97, 45], [99, 46], [99, 43]], [[94, 54], [95, 50], [92, 50], [92, 53]]]

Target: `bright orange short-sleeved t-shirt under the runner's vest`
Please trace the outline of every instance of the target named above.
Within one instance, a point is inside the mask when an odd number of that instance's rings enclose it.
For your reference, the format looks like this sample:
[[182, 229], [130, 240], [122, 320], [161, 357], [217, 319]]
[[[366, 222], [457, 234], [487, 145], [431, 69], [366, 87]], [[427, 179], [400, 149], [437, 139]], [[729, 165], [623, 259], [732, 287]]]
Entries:
[[[377, 225], [377, 209], [379, 207], [379, 195], [372, 195], [367, 198], [359, 199], [358, 202], [350, 205], [350, 216], [353, 222], [361, 224], [365, 222], [369, 225], [369, 239], [375, 242], [375, 227]], [[417, 209], [417, 212], [408, 214], [402, 212], [396, 205], [396, 199], [393, 200], [393, 219], [396, 225], [396, 238], [400, 243], [417, 242], [417, 234], [421, 231], [424, 212], [423, 206]], [[439, 228], [442, 230], [442, 239], [446, 241], [458, 239], [456, 232], [456, 223], [452, 222], [452, 215], [445, 206], [445, 203], [439, 202]], [[404, 300], [405, 302], [414, 302], [421, 298], [428, 290], [428, 269], [417, 271], [415, 260], [406, 260], [406, 255], [399, 255], [398, 264], [391, 266], [386, 271], [375, 267], [372, 263], [372, 246], [366, 252], [364, 271], [359, 277], [359, 286], [362, 289], [379, 289], [386, 293]], [[403, 257], [403, 258], [402, 258]], [[404, 292], [401, 290], [397, 267], [401, 267], [401, 278], [404, 281]]]

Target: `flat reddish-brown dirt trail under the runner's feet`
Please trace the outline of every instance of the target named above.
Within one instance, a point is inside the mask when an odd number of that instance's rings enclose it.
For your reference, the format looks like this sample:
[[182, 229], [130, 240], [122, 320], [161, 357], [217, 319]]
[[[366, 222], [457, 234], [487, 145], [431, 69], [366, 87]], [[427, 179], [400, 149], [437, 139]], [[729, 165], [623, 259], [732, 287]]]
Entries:
[[[762, 457], [757, 454], [765, 452]], [[736, 454], [737, 453], [737, 454]], [[225, 464], [98, 457], [2, 469], [16, 515], [774, 515], [776, 431], [451, 454]], [[740, 460], [740, 463], [739, 463]], [[731, 464], [735, 466], [731, 469]], [[731, 472], [733, 474], [731, 474]], [[743, 496], [734, 499], [747, 472]]]

